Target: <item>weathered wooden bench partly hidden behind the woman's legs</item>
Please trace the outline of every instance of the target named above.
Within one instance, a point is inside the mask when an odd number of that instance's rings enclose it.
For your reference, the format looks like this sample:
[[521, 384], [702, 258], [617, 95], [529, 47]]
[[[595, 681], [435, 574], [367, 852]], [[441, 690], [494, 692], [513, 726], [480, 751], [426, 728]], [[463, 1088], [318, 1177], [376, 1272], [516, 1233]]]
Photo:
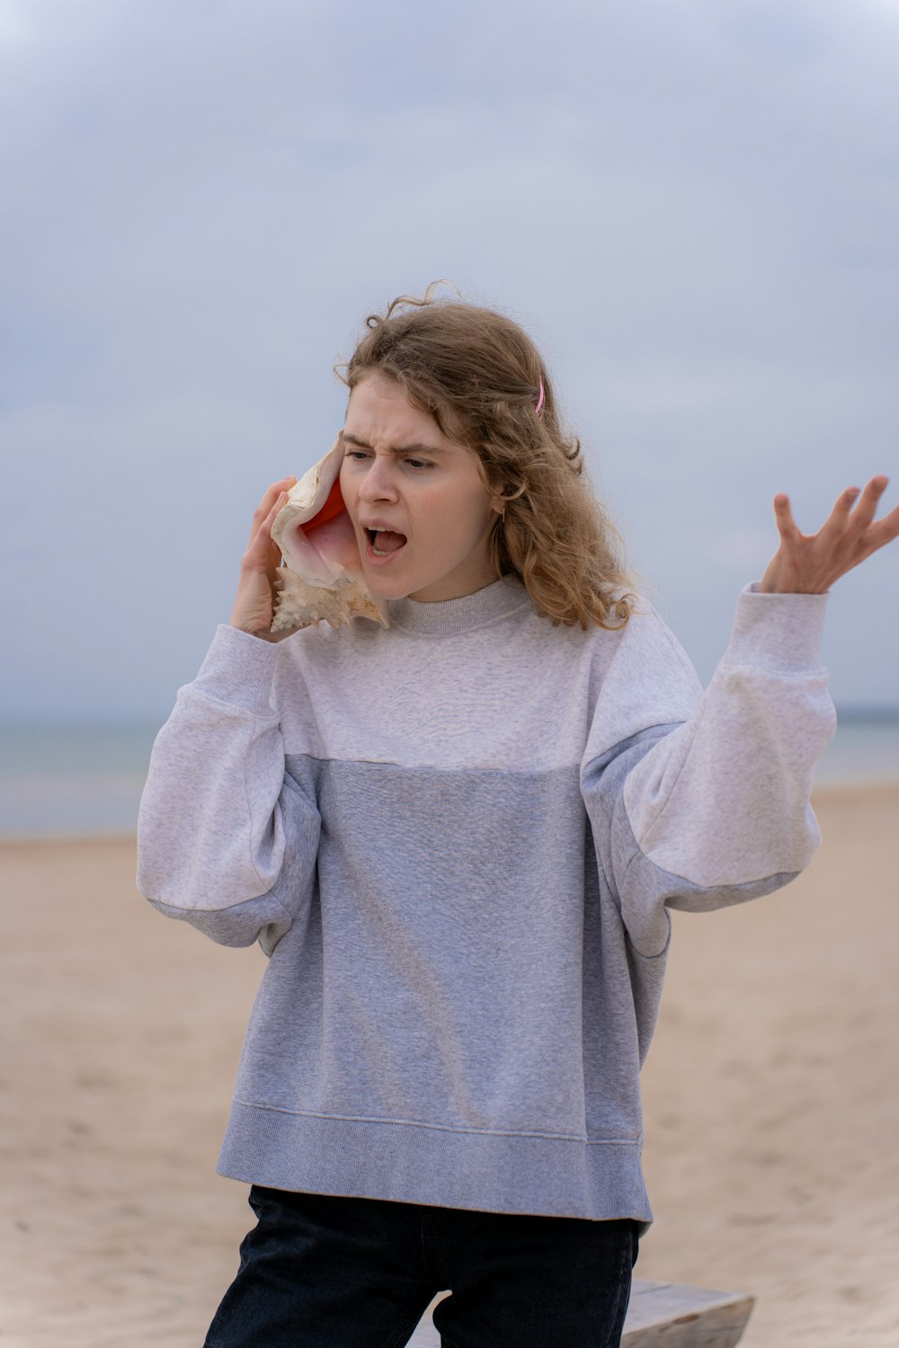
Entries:
[[[431, 1321], [431, 1310], [441, 1299], [437, 1297], [427, 1308], [410, 1339], [411, 1348], [441, 1348], [441, 1336]], [[621, 1348], [733, 1348], [753, 1305], [755, 1298], [740, 1291], [635, 1278]]]

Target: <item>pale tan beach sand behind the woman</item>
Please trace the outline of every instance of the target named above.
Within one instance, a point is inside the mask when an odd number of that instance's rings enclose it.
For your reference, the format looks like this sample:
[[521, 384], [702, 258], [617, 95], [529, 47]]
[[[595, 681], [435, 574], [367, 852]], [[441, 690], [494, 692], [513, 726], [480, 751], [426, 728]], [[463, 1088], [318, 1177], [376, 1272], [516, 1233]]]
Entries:
[[[675, 914], [638, 1274], [749, 1291], [745, 1348], [899, 1344], [899, 786], [809, 872]], [[129, 840], [0, 845], [4, 1348], [197, 1348], [247, 1189], [214, 1173], [263, 971], [154, 913]]]

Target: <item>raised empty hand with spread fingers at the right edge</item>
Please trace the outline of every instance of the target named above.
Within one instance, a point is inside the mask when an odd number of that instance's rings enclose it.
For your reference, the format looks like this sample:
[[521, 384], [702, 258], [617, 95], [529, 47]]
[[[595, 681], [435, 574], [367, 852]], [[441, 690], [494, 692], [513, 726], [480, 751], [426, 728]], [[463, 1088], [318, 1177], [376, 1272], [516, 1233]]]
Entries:
[[896, 538], [899, 506], [876, 523], [873, 519], [888, 480], [872, 477], [861, 495], [857, 487], [848, 487], [817, 534], [801, 534], [788, 499], [775, 496], [780, 547], [759, 589], [764, 594], [825, 594], [841, 576]]

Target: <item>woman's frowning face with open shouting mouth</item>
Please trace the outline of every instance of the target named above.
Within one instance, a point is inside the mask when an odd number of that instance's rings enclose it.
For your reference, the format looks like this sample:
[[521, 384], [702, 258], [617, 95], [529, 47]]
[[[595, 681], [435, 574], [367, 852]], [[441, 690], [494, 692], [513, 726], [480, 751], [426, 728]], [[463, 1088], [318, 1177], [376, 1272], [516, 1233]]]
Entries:
[[501, 499], [395, 379], [368, 373], [352, 390], [340, 489], [376, 599], [458, 599], [499, 578], [488, 539]]

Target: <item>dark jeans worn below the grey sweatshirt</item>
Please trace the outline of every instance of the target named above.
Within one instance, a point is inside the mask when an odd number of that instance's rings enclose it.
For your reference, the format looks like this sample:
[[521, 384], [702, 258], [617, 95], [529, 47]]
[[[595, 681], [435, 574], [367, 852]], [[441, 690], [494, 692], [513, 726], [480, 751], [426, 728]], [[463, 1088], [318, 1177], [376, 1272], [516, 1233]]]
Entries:
[[431, 1299], [443, 1348], [617, 1348], [629, 1219], [519, 1216], [253, 1186], [259, 1221], [206, 1348], [402, 1348]]

